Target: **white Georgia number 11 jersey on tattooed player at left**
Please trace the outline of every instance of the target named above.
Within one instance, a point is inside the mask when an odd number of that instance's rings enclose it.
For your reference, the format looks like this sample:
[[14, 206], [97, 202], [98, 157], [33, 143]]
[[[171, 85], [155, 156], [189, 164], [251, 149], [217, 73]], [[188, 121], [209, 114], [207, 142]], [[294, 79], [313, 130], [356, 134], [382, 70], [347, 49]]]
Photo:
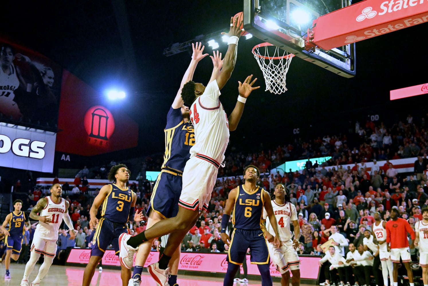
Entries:
[[54, 203], [51, 200], [51, 196], [48, 198], [48, 204], [42, 211], [40, 212], [40, 216], [47, 215], [48, 218], [51, 219], [52, 222], [44, 223], [39, 221], [37, 224], [35, 235], [38, 234], [39, 238], [42, 239], [58, 239], [58, 230], [59, 226], [62, 223], [62, 218], [64, 217], [64, 212], [67, 211], [65, 208], [65, 200], [61, 198], [60, 203]]

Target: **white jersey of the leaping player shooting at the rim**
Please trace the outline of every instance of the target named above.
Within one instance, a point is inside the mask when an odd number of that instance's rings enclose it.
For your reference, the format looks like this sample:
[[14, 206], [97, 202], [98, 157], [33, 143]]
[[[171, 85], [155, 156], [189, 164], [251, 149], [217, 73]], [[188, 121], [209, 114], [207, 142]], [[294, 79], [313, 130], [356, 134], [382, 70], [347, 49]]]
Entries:
[[229, 123], [219, 97], [217, 81], [213, 80], [190, 106], [190, 120], [195, 130], [190, 157], [202, 154], [221, 164], [229, 143]]

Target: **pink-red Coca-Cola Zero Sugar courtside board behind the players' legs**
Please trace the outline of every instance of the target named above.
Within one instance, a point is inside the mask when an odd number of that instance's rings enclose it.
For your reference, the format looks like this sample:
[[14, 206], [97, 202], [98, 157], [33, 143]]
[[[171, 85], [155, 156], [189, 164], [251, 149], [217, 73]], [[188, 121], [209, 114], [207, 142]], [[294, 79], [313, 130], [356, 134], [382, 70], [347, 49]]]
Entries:
[[[90, 249], [71, 249], [67, 258], [67, 263], [82, 263], [87, 264], [91, 256]], [[178, 270], [188, 271], [203, 271], [203, 272], [218, 272], [226, 273], [227, 261], [226, 254], [214, 253], [197, 253], [197, 252], [183, 252], [180, 256]], [[158, 261], [159, 252], [152, 251], [147, 257], [144, 267]], [[305, 279], [318, 279], [319, 266], [318, 261], [320, 257], [300, 257], [300, 277]], [[114, 254], [113, 250], [107, 250], [102, 259], [103, 265], [120, 266], [119, 257]], [[260, 275], [259, 269], [256, 264], [250, 264], [250, 255], [247, 255], [248, 274]], [[281, 274], [276, 271], [276, 266], [270, 262], [270, 275], [281, 277]], [[241, 266], [241, 273], [242, 266]]]

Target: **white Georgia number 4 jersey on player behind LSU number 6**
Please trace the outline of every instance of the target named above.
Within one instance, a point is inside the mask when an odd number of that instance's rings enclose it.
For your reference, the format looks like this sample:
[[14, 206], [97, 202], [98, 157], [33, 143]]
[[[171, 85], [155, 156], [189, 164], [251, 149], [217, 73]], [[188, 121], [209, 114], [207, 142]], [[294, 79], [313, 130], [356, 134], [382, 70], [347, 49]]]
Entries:
[[[297, 221], [296, 207], [294, 204], [289, 202], [279, 205], [275, 202], [275, 200], [272, 200], [271, 203], [276, 222], [278, 223], [279, 239], [281, 239], [282, 242], [287, 242], [291, 239], [291, 237], [293, 237], [293, 234], [290, 230], [290, 223], [291, 221]], [[275, 232], [273, 231], [272, 225], [270, 224], [266, 209], [263, 209], [263, 218], [266, 219], [266, 230], [274, 235]]]

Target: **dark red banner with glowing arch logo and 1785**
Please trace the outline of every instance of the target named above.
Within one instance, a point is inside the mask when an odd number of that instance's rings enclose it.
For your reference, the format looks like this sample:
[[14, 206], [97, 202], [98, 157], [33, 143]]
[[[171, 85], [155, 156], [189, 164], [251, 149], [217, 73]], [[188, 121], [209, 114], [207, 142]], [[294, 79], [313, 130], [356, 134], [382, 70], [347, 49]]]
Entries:
[[138, 124], [121, 110], [109, 110], [101, 96], [63, 72], [56, 151], [93, 156], [137, 146]]

